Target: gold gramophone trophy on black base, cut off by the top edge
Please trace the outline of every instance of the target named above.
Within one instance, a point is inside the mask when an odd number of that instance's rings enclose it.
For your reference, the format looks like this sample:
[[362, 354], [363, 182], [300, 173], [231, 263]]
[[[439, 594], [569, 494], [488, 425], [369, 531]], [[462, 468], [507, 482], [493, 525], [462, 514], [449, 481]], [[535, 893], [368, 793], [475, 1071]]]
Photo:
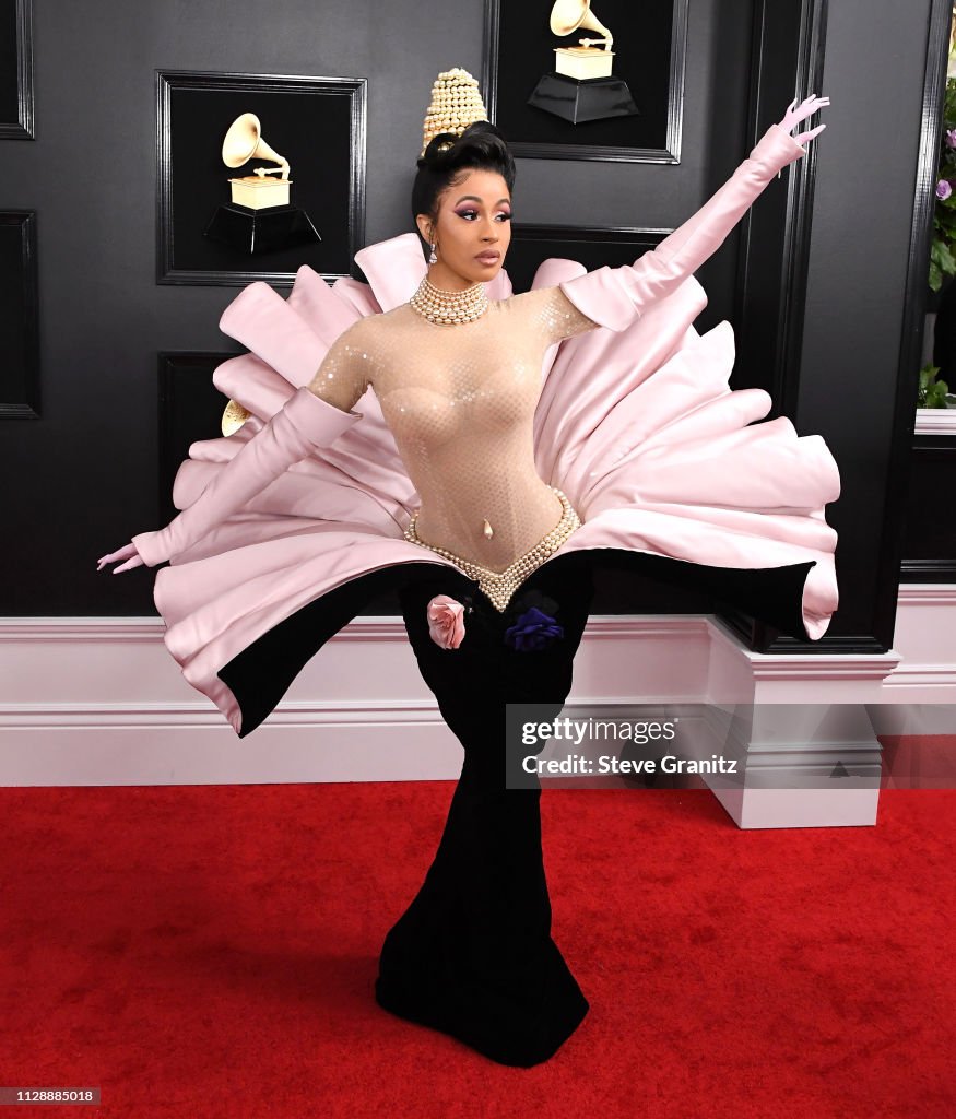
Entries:
[[551, 30], [572, 35], [584, 28], [600, 38], [554, 48], [554, 70], [544, 74], [527, 103], [571, 124], [639, 113], [627, 82], [612, 75], [615, 37], [591, 11], [590, 0], [554, 0]]

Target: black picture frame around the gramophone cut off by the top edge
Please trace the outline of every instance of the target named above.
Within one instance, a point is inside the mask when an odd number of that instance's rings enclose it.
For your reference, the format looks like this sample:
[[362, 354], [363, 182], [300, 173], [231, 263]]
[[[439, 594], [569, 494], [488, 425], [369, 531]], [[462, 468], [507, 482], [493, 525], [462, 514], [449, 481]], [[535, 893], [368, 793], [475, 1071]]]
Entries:
[[546, 2], [485, 0], [482, 90], [489, 120], [517, 157], [679, 163], [687, 8], [688, 0], [599, 0], [596, 15], [615, 36], [615, 76], [628, 83], [640, 115], [572, 124], [527, 98], [553, 70], [554, 47], [594, 32], [559, 38], [551, 32]]

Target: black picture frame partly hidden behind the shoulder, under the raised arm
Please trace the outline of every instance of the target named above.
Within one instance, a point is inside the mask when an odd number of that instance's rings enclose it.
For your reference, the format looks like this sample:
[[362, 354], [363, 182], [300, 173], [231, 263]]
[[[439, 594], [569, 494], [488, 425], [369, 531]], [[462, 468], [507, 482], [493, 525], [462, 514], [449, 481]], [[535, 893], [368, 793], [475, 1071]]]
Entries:
[[516, 293], [531, 288], [538, 265], [557, 256], [578, 261], [588, 272], [632, 264], [657, 247], [672, 229], [639, 226], [535, 225], [515, 223], [506, 269]]

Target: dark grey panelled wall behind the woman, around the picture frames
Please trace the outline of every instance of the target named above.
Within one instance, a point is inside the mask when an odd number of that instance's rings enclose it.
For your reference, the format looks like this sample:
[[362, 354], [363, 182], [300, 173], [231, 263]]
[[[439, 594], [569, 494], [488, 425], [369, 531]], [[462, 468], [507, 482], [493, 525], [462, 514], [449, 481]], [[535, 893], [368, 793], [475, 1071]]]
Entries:
[[[884, 529], [929, 6], [831, 4], [826, 88], [815, 91], [833, 107], [817, 141], [790, 403], [798, 431], [823, 434], [844, 474], [845, 496], [831, 507], [843, 595], [832, 634], [857, 642], [878, 630], [873, 548]], [[236, 294], [156, 283], [154, 72], [367, 77], [365, 228], [376, 241], [412, 227], [409, 191], [431, 83], [456, 65], [480, 74], [484, 6], [35, 8], [38, 139], [0, 141], [0, 209], [37, 211], [43, 408], [38, 420], [0, 421], [0, 613], [150, 614], [150, 573], [97, 574], [95, 561], [160, 527], [157, 355], [234, 349], [217, 322]], [[751, 0], [691, 4], [679, 166], [523, 159], [519, 220], [672, 228], [688, 217], [747, 153], [752, 15]], [[734, 237], [701, 272], [711, 298], [702, 330], [738, 313], [738, 246]], [[662, 600], [626, 580], [599, 601], [622, 612], [678, 608], [701, 604]]]

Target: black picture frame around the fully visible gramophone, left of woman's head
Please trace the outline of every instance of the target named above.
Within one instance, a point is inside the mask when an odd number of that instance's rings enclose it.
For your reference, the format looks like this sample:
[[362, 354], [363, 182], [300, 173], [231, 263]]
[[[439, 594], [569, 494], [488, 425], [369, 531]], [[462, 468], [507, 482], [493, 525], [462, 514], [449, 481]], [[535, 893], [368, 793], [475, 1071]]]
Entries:
[[[365, 238], [366, 86], [354, 77], [157, 70], [157, 282], [291, 288], [302, 264], [329, 283], [350, 275]], [[229, 177], [275, 167], [223, 162], [223, 139], [244, 112], [259, 116], [261, 138], [289, 160], [290, 200], [320, 242], [260, 254], [205, 236], [231, 203]]]

